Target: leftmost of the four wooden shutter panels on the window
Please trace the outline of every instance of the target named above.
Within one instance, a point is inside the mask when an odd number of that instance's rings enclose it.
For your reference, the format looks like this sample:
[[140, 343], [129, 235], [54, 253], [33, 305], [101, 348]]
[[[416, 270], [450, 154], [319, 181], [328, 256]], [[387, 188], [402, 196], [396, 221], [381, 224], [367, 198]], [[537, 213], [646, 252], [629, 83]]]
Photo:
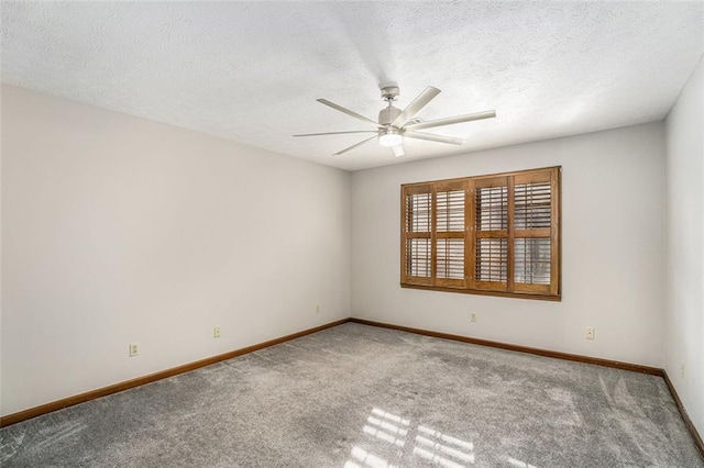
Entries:
[[432, 186], [405, 187], [402, 282], [432, 285]]

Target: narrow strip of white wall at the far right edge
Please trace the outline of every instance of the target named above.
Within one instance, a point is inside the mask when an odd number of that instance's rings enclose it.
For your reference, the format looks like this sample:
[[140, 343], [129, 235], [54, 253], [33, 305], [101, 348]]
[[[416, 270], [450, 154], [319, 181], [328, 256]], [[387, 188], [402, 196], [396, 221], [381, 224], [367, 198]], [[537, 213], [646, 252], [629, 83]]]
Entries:
[[[664, 369], [704, 435], [704, 58], [682, 90], [667, 125], [667, 307]], [[684, 364], [684, 376], [680, 366]]]

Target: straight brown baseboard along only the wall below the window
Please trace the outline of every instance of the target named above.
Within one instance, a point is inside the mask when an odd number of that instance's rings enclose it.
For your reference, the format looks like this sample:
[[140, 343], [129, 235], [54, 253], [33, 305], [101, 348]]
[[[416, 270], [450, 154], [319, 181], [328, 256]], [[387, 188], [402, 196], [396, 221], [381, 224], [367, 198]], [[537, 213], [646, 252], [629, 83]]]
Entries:
[[381, 326], [384, 328], [398, 330], [400, 332], [416, 333], [418, 335], [432, 336], [436, 338], [452, 339], [455, 342], [470, 343], [473, 345], [491, 346], [494, 348], [515, 350], [519, 353], [535, 354], [538, 356], [554, 357], [557, 359], [574, 360], [578, 363], [595, 364], [597, 366], [615, 367], [618, 369], [631, 370], [634, 372], [650, 374], [652, 376], [662, 377], [663, 370], [658, 367], [640, 366], [638, 364], [620, 363], [618, 360], [601, 359], [598, 357], [581, 356], [576, 354], [560, 353], [549, 349], [531, 348], [528, 346], [510, 345], [501, 342], [491, 342], [488, 339], [472, 338], [469, 336], [451, 335], [449, 333], [431, 332], [421, 328], [411, 328], [409, 326], [392, 325], [388, 323], [374, 322], [363, 319], [350, 319], [350, 322], [361, 323], [364, 325]]

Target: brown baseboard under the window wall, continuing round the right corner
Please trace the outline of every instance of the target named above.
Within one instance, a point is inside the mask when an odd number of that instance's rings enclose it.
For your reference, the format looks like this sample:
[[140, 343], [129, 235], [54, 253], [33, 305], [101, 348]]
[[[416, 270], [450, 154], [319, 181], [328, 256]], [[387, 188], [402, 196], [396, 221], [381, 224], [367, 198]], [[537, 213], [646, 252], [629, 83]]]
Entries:
[[631, 370], [634, 372], [649, 374], [652, 376], [662, 377], [664, 379], [664, 382], [668, 386], [668, 389], [670, 390], [670, 393], [672, 394], [672, 399], [674, 400], [674, 403], [676, 404], [678, 410], [680, 411], [680, 415], [684, 421], [684, 425], [690, 431], [690, 435], [692, 436], [692, 439], [694, 439], [694, 445], [696, 445], [696, 448], [700, 450], [700, 455], [702, 456], [702, 458], [704, 458], [704, 444], [702, 443], [702, 437], [700, 436], [700, 433], [696, 431], [696, 427], [694, 427], [692, 420], [690, 420], [690, 416], [686, 413], [686, 410], [684, 409], [684, 406], [682, 405], [682, 401], [680, 400], [680, 397], [678, 395], [678, 392], [674, 389], [674, 386], [670, 381], [670, 378], [668, 377], [668, 374], [664, 371], [664, 369], [660, 369], [658, 367], [640, 366], [638, 364], [620, 363], [618, 360], [608, 360], [608, 359], [601, 359], [597, 357], [581, 356], [576, 354], [559, 353], [559, 352], [552, 352], [552, 350], [540, 349], [540, 348], [531, 348], [528, 346], [509, 345], [506, 343], [491, 342], [488, 339], [479, 339], [479, 338], [472, 338], [469, 336], [451, 335], [449, 333], [440, 333], [440, 332], [432, 332], [432, 331], [422, 330], [422, 328], [413, 328], [409, 326], [393, 325], [391, 323], [374, 322], [374, 321], [364, 320], [364, 319], [351, 317], [349, 322], [361, 323], [363, 325], [380, 326], [383, 328], [398, 330], [400, 332], [415, 333], [417, 335], [425, 335], [425, 336], [432, 336], [435, 338], [444, 338], [444, 339], [452, 339], [455, 342], [471, 343], [473, 345], [491, 346], [494, 348], [535, 354], [538, 356], [554, 357], [557, 359], [574, 360], [578, 363], [594, 364], [597, 366], [605, 366], [605, 367], [615, 367], [617, 369]]

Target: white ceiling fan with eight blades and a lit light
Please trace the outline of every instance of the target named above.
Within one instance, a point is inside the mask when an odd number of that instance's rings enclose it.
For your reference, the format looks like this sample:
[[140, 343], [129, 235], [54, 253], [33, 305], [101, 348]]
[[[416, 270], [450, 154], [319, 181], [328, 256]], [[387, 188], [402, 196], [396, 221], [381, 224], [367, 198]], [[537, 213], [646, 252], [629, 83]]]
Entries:
[[342, 105], [330, 102], [327, 99], [318, 99], [321, 104], [326, 104], [334, 110], [343, 112], [356, 120], [364, 123], [372, 124], [376, 130], [354, 130], [348, 132], [327, 132], [327, 133], [305, 133], [294, 136], [320, 136], [320, 135], [342, 135], [348, 133], [374, 133], [366, 140], [356, 143], [350, 147], [346, 147], [334, 155], [341, 155], [349, 151], [362, 146], [363, 144], [378, 138], [378, 143], [382, 146], [391, 147], [394, 151], [396, 157], [404, 155], [404, 136], [416, 140], [427, 140], [430, 142], [449, 143], [452, 145], [461, 145], [464, 140], [453, 138], [451, 136], [436, 135], [432, 133], [418, 132], [422, 129], [432, 129], [435, 126], [451, 125], [454, 123], [470, 122], [473, 120], [492, 119], [496, 116], [496, 111], [483, 111], [472, 114], [457, 115], [452, 118], [437, 119], [431, 121], [424, 121], [422, 119], [415, 118], [422, 108], [428, 104], [436, 96], [440, 93], [438, 88], [431, 86], [427, 87], [403, 111], [394, 107], [394, 101], [398, 98], [398, 85], [396, 83], [382, 83], [380, 86], [382, 90], [382, 99], [386, 101], [386, 108], [382, 109], [378, 113], [378, 122], [374, 122], [372, 119], [360, 115], [354, 111], [351, 111]]

